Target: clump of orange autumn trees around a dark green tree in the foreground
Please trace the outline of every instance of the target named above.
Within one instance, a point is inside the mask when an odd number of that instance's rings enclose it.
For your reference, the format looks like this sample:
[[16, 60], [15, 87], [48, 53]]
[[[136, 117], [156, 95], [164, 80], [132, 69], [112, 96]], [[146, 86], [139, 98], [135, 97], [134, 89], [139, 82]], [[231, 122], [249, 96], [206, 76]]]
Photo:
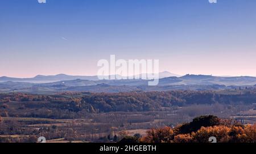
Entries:
[[255, 143], [256, 125], [241, 125], [213, 116], [201, 116], [175, 129], [151, 129], [140, 139], [143, 143], [209, 143], [211, 136], [219, 143]]

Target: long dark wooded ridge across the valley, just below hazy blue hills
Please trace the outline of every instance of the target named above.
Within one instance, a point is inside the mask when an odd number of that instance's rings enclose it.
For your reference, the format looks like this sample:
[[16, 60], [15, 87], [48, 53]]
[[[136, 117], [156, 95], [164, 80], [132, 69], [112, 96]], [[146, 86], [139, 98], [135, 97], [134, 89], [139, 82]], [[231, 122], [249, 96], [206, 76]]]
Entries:
[[[172, 106], [193, 104], [252, 105], [256, 102], [256, 91], [168, 91], [168, 92], [124, 92], [88, 93], [64, 92], [59, 95], [32, 95], [26, 93], [0, 94], [1, 114], [15, 110], [36, 110], [26, 117], [61, 118], [40, 115], [40, 110], [70, 113], [148, 112], [160, 111]], [[9, 108], [9, 106], [11, 106]], [[2, 115], [4, 116], [4, 115]], [[52, 117], [51, 117], [52, 116]], [[56, 115], [57, 116], [57, 115]]]

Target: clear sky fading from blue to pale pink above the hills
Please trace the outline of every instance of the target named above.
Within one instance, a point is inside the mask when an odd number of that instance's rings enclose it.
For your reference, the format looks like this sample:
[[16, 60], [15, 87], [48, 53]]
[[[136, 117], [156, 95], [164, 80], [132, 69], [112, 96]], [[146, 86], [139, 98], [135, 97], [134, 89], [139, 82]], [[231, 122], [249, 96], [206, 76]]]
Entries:
[[175, 74], [256, 76], [255, 0], [2, 0], [0, 76], [96, 75], [159, 59]]

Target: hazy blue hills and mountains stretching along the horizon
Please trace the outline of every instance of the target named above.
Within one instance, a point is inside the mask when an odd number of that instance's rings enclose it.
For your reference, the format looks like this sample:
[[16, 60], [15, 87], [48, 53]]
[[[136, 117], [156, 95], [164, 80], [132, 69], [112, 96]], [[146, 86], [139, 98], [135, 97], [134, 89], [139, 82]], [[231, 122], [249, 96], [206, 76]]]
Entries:
[[[167, 72], [163, 73], [168, 75]], [[160, 76], [160, 75], [159, 75]], [[242, 87], [256, 88], [256, 78], [251, 76], [220, 77], [212, 75], [184, 75], [160, 78], [156, 86], [148, 80], [121, 79], [98, 80], [97, 76], [38, 75], [35, 78], [0, 78], [0, 92], [52, 93], [61, 91], [129, 92], [170, 90], [221, 90]], [[48, 82], [46, 82], [48, 81]], [[53, 82], [51, 82], [53, 81]]]

